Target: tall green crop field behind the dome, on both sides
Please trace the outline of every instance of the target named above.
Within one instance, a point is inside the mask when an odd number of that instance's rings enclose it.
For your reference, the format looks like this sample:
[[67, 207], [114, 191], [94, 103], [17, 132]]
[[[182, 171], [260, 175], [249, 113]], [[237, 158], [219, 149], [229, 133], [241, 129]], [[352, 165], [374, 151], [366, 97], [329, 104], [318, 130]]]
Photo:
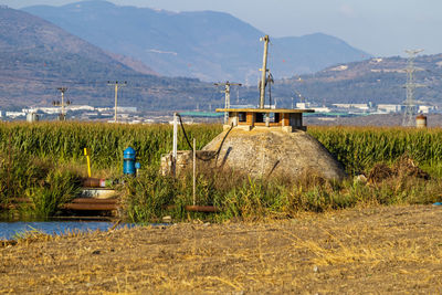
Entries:
[[[221, 125], [186, 126], [200, 149], [221, 133]], [[391, 164], [408, 154], [420, 165], [438, 172], [442, 164], [442, 129], [388, 127], [309, 127], [316, 137], [350, 175], [360, 173], [377, 162]], [[158, 165], [172, 147], [170, 125], [114, 125], [97, 123], [2, 123], [0, 148], [14, 149], [56, 161], [84, 162], [83, 150], [91, 150], [97, 169], [119, 168], [123, 151], [137, 150], [143, 166]], [[178, 149], [189, 149], [179, 135]]]

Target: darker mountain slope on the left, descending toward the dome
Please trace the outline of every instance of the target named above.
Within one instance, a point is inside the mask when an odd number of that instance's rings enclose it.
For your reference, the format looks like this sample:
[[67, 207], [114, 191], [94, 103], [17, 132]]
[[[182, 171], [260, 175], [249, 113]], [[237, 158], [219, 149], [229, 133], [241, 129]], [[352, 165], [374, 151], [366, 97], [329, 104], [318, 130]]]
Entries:
[[[138, 67], [139, 72], [131, 67]], [[0, 107], [51, 106], [57, 87], [75, 104], [113, 106], [107, 81], [127, 81], [119, 103], [141, 109], [192, 109], [213, 98], [213, 86], [194, 78], [146, 75], [148, 67], [103, 50], [20, 10], [0, 8]], [[193, 89], [197, 88], [196, 93]], [[200, 95], [200, 96], [199, 96]], [[201, 106], [204, 102], [201, 99]]]

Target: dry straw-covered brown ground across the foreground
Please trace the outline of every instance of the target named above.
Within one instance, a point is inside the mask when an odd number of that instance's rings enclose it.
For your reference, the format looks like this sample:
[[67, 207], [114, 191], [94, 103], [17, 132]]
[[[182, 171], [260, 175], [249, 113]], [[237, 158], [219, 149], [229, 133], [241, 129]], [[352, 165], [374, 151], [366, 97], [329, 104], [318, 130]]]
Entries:
[[0, 247], [0, 293], [441, 294], [442, 208], [145, 226]]

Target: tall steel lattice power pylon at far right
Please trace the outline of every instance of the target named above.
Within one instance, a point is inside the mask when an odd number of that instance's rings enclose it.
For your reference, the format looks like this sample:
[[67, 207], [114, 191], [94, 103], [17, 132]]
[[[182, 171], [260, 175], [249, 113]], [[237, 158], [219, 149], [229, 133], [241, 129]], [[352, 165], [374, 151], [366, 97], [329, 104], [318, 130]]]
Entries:
[[415, 102], [414, 102], [414, 91], [418, 87], [423, 87], [425, 85], [414, 83], [414, 73], [422, 71], [422, 69], [414, 66], [415, 55], [423, 50], [406, 50], [408, 57], [407, 72], [407, 99], [406, 99], [406, 112], [403, 113], [402, 126], [411, 127], [414, 126], [414, 115], [415, 115]]

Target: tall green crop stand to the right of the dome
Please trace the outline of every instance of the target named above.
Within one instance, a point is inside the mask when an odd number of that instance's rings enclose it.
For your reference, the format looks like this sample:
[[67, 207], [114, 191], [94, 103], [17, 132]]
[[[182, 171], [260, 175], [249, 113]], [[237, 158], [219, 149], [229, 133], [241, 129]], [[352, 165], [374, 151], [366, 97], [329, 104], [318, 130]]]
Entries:
[[350, 175], [377, 162], [392, 164], [408, 155], [430, 172], [441, 175], [442, 129], [401, 127], [311, 127], [316, 137]]

